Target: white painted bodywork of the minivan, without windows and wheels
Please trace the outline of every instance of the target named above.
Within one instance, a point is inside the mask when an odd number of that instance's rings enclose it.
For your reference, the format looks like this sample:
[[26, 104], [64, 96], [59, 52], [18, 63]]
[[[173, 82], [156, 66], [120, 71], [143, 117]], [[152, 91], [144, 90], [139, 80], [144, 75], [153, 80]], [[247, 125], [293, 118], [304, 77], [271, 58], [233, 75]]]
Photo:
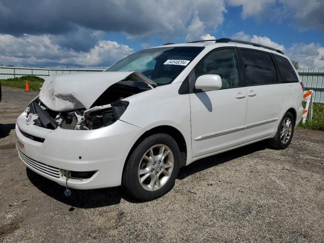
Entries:
[[[61, 128], [49, 130], [26, 124], [26, 113], [22, 113], [16, 126], [18, 148], [28, 157], [56, 168], [72, 171], [96, 170], [97, 173], [90, 179], [68, 180], [71, 188], [93, 189], [120, 185], [132, 146], [146, 131], [158, 126], [173, 127], [183, 135], [187, 146], [186, 165], [189, 165], [199, 158], [273, 137], [282, 116], [290, 108], [296, 110], [296, 126], [301, 120], [303, 92], [299, 83], [239, 87], [183, 95], [178, 92], [194, 66], [215, 48], [237, 46], [278, 53], [233, 43], [169, 46], [205, 46], [205, 49], [187, 64], [172, 84], [128, 97], [129, 106], [125, 113], [110, 126], [89, 131]], [[87, 108], [110, 85], [130, 74], [131, 72], [57, 75], [47, 80], [41, 99], [45, 101], [45, 105], [56, 110], [79, 105]], [[54, 79], [55, 83], [51, 85], [51, 80]], [[150, 79], [144, 79], [143, 82], [150, 82]], [[78, 88], [81, 83], [89, 84], [89, 89]], [[52, 93], [51, 96], [50, 91], [55, 95]], [[19, 129], [44, 138], [44, 143], [26, 138]], [[65, 185], [63, 176], [53, 178], [42, 172], [35, 172]]]

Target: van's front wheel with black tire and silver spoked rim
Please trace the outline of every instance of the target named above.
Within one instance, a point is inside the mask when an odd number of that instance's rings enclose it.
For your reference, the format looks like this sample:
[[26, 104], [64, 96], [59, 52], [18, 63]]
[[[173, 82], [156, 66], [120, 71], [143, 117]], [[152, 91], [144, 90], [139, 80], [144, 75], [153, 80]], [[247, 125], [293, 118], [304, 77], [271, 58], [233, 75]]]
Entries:
[[158, 133], [145, 138], [127, 161], [122, 185], [142, 201], [166, 194], [177, 178], [179, 155], [178, 144], [170, 135]]

